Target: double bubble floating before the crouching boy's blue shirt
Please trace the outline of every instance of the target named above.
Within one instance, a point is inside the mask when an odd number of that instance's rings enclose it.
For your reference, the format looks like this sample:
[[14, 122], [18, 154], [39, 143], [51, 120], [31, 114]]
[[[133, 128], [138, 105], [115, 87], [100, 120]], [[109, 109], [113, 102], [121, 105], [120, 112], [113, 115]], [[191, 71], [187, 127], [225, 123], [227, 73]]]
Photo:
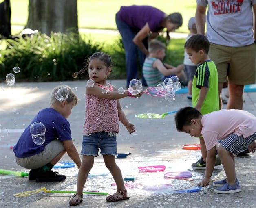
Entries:
[[42, 145], [45, 142], [45, 131], [46, 128], [44, 124], [40, 121], [34, 122], [30, 125], [30, 134], [32, 137], [33, 142], [36, 145]]

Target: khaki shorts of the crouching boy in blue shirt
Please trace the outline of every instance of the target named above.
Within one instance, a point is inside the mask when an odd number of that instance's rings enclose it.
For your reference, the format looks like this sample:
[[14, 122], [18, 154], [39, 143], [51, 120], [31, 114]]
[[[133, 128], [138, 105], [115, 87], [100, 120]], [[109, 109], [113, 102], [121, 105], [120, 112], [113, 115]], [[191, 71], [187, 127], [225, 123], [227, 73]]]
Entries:
[[59, 140], [53, 140], [38, 154], [27, 158], [16, 157], [16, 163], [27, 169], [40, 168], [51, 162], [63, 150], [65, 150], [63, 143]]

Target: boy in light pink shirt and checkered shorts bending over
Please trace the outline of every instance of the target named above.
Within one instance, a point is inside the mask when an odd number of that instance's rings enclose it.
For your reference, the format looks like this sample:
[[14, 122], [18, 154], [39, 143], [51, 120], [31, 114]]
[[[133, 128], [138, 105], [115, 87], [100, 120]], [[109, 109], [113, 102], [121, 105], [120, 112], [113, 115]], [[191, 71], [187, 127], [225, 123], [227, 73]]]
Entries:
[[248, 148], [252, 153], [256, 150], [256, 117], [243, 110], [222, 109], [202, 115], [196, 108], [181, 108], [175, 115], [176, 129], [194, 137], [203, 136], [206, 149], [205, 177], [198, 186], [208, 186], [215, 164], [218, 140], [222, 142], [218, 147], [226, 177], [215, 181], [216, 193], [236, 193], [241, 188], [236, 178], [234, 154]]

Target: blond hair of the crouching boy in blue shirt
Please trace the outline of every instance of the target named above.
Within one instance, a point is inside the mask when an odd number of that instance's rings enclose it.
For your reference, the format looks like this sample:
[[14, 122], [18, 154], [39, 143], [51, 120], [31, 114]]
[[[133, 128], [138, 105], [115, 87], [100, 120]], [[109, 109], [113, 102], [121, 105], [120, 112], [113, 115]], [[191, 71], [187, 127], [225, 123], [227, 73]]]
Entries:
[[68, 85], [59, 85], [57, 87], [55, 87], [51, 93], [51, 100], [50, 100], [50, 105], [52, 104], [57, 104], [61, 101], [57, 100], [56, 97], [55, 97], [55, 94], [57, 93], [57, 91], [59, 89], [62, 89], [62, 88], [66, 88], [68, 89], [68, 98], [66, 98], [65, 100], [70, 103], [70, 102], [73, 102], [75, 101], [75, 104], [78, 103], [79, 101], [79, 98], [77, 97], [77, 95], [75, 94], [75, 92], [73, 91], [73, 89], [71, 89], [71, 87], [69, 87]]

